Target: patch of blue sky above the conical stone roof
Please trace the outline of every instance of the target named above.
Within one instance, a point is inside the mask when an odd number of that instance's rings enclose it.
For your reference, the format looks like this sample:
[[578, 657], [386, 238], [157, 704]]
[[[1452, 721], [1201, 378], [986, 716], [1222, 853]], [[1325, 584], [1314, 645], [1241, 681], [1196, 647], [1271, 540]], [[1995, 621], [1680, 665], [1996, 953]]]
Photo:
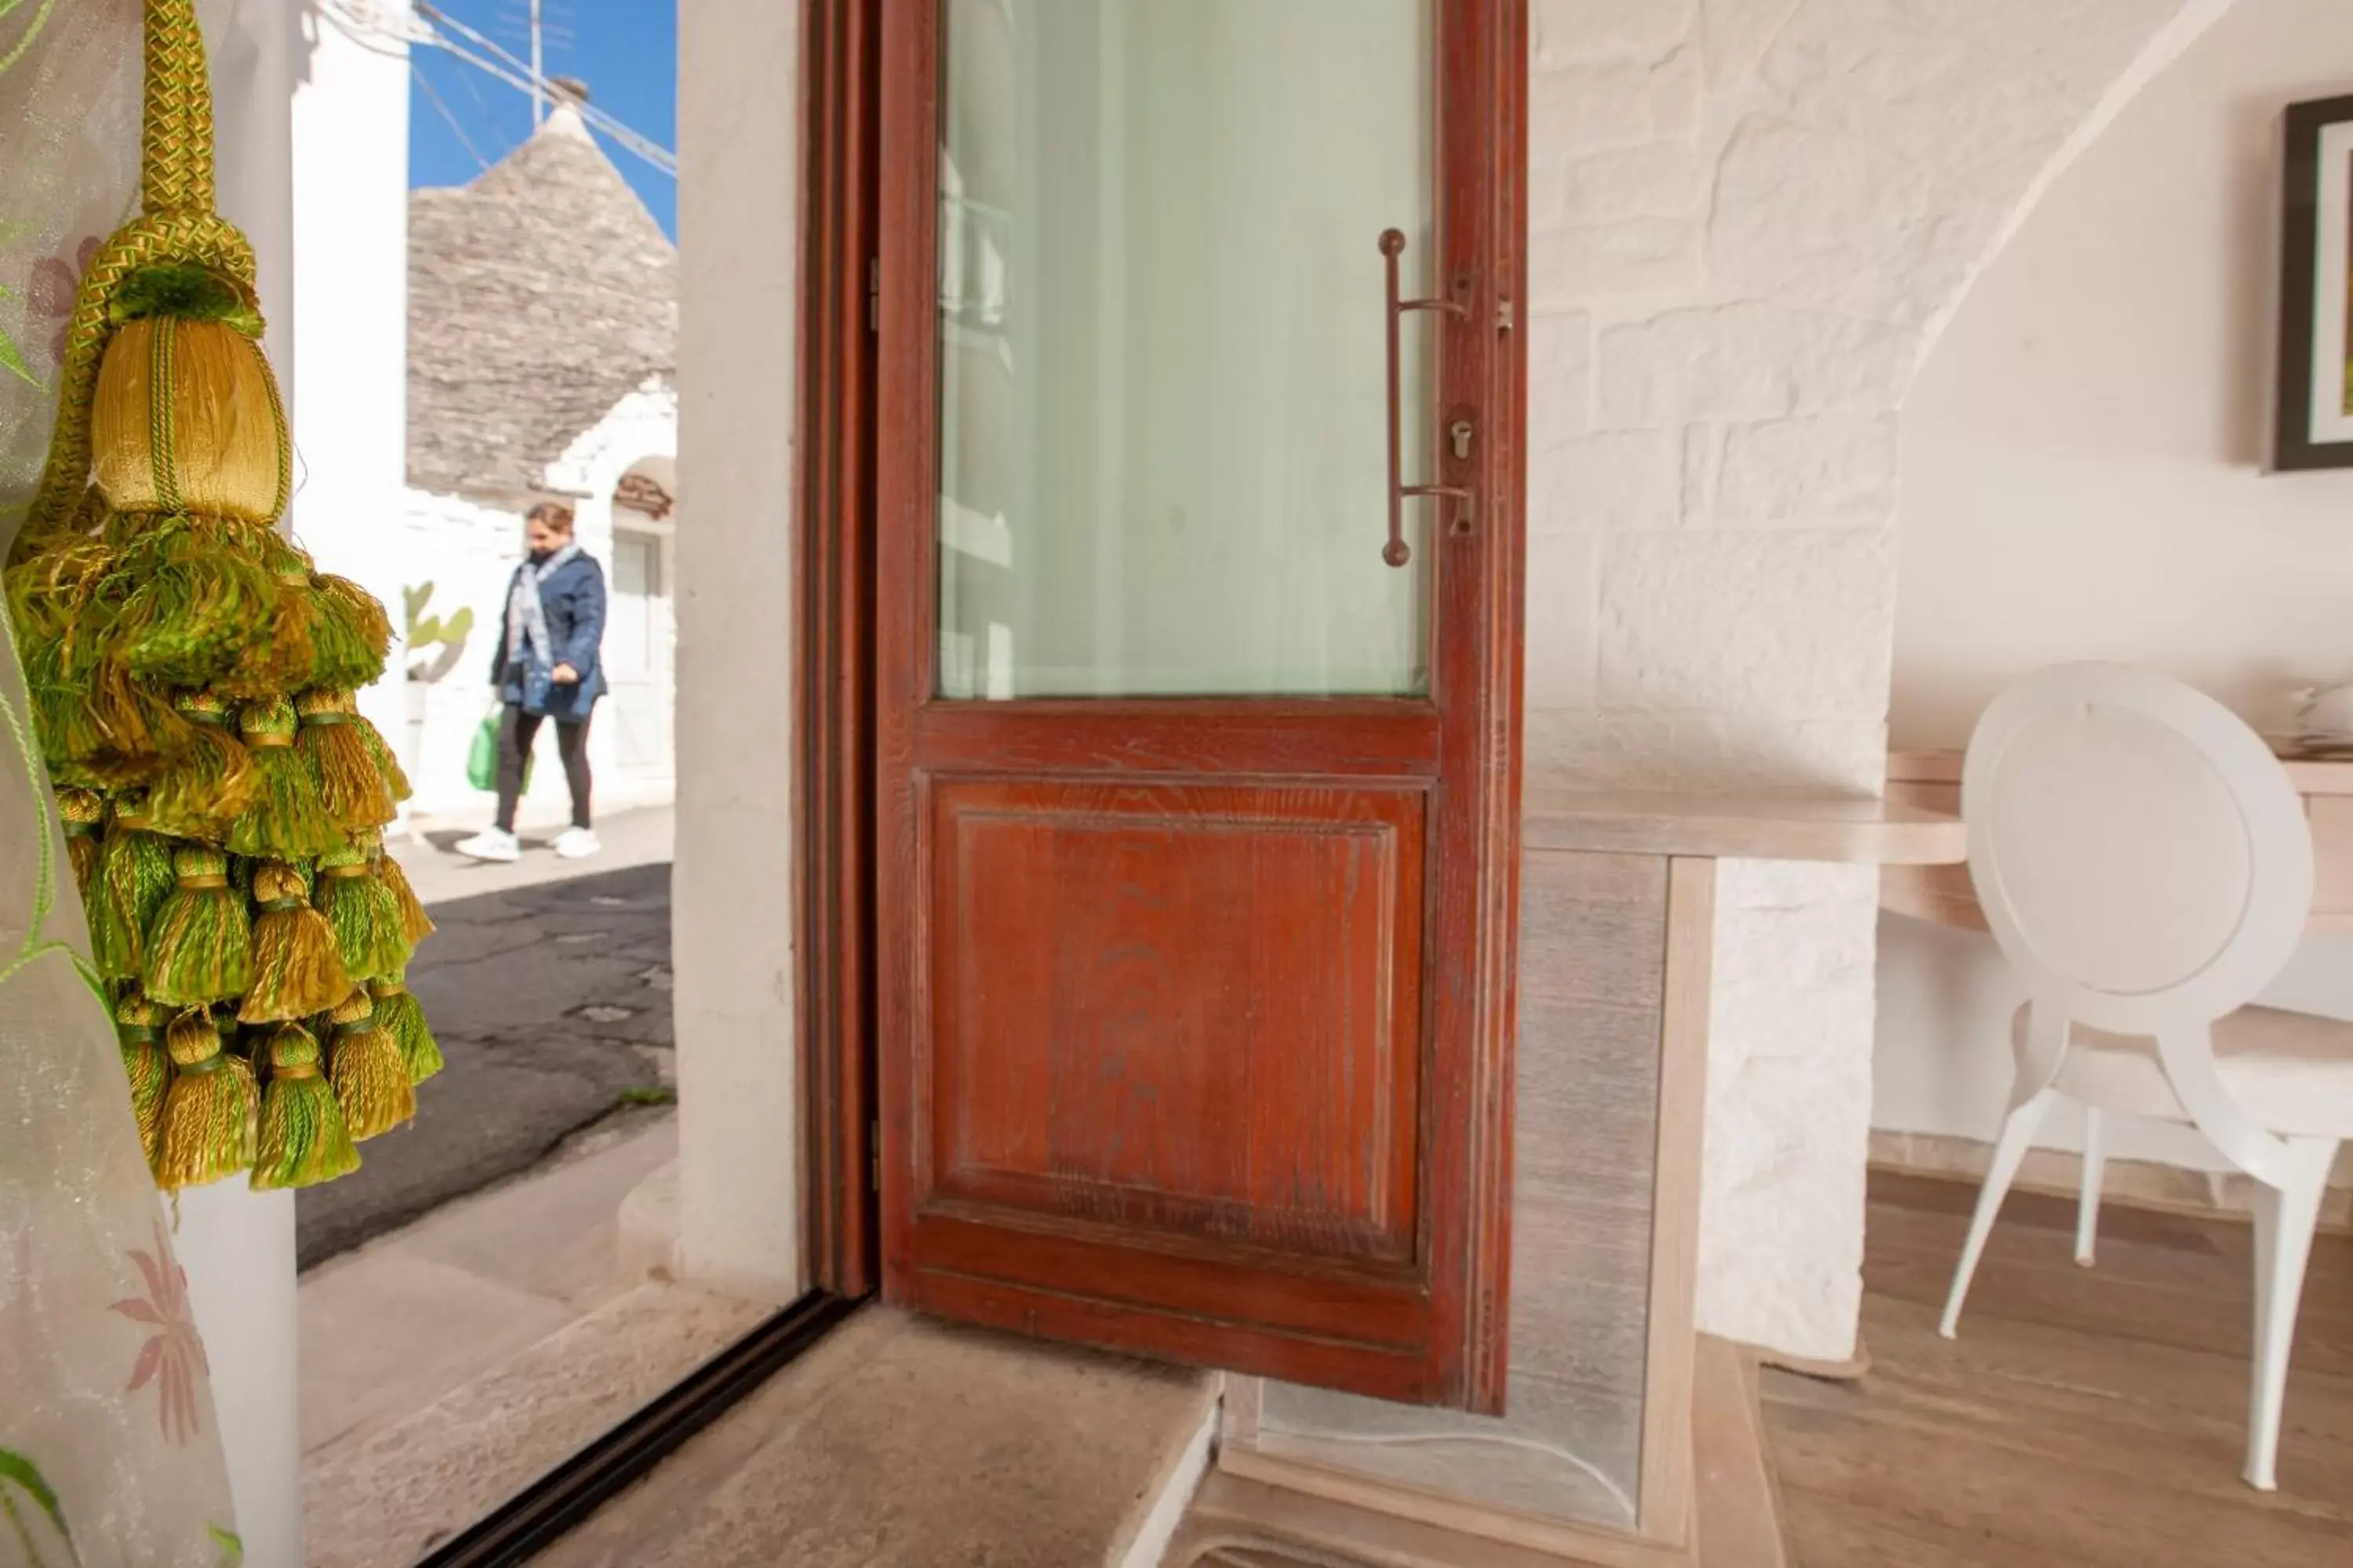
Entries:
[[[527, 0], [435, 0], [508, 54], [529, 59]], [[541, 0], [546, 73], [588, 82], [591, 101], [678, 150], [678, 2]], [[431, 92], [428, 92], [431, 87]], [[440, 103], [435, 103], [440, 99]], [[447, 113], [442, 113], [447, 110]], [[454, 125], [452, 125], [454, 122]], [[532, 101], [442, 49], [416, 49], [409, 87], [409, 183], [461, 186], [532, 134]], [[466, 143], [473, 143], [468, 150]], [[678, 237], [678, 181], [605, 141], [605, 153]]]

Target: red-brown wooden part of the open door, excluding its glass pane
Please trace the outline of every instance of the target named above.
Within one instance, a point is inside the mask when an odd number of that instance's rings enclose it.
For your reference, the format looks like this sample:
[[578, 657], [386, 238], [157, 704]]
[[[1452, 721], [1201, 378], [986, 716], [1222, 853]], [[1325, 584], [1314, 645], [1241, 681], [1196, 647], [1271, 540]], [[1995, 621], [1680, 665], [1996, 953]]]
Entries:
[[1499, 1410], [1527, 21], [1525, 0], [1433, 5], [1433, 280], [1471, 301], [1431, 317], [1435, 416], [1478, 440], [1421, 440], [1478, 505], [1428, 534], [1431, 696], [951, 703], [941, 7], [880, 0], [882, 1284], [1002, 1328]]

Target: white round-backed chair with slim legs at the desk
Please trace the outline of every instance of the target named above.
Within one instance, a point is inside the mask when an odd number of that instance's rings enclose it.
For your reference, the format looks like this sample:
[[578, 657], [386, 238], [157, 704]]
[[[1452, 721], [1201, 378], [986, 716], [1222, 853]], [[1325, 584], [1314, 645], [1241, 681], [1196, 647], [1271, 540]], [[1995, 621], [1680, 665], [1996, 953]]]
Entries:
[[2028, 1001], [1941, 1333], [1953, 1338], [2054, 1098], [2085, 1107], [2082, 1265], [2099, 1227], [2101, 1114], [2191, 1124], [2259, 1182], [2245, 1476], [2275, 1490], [2304, 1265], [2337, 1145], [2353, 1138], [2353, 1023], [2247, 1006], [2311, 912], [2304, 802], [2221, 703], [2146, 670], [2061, 665], [1979, 719], [1960, 809], [1977, 898]]

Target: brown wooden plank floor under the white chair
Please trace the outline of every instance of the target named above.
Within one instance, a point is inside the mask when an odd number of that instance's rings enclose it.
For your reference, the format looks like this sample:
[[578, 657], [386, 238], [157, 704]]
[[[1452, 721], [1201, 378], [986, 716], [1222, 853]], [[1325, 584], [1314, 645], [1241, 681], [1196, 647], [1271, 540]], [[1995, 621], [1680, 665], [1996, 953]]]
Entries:
[[2280, 1490], [2240, 1479], [2252, 1232], [2014, 1194], [1960, 1340], [1937, 1316], [1974, 1187], [1875, 1175], [1859, 1385], [1767, 1373], [1795, 1568], [2353, 1566], [2353, 1239], [2304, 1286]]

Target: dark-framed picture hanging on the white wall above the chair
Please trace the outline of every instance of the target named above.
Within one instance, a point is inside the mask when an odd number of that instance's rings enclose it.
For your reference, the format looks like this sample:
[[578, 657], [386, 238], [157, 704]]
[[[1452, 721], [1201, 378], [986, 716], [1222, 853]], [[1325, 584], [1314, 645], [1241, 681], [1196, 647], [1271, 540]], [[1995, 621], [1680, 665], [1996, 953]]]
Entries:
[[2353, 96], [2287, 108], [2273, 468], [2353, 468]]

